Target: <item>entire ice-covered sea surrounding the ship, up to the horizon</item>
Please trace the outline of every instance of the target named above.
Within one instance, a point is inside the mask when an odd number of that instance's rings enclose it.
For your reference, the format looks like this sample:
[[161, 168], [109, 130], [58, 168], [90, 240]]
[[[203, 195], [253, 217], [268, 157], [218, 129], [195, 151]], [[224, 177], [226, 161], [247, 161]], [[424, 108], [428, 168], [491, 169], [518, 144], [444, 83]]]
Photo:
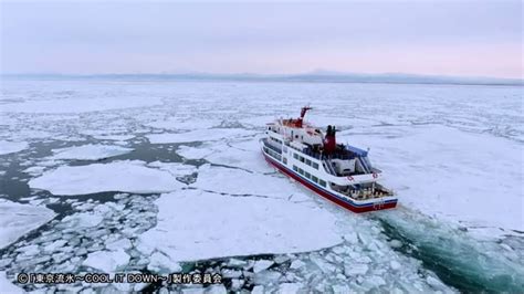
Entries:
[[[524, 290], [521, 86], [109, 78], [0, 86], [0, 292]], [[269, 166], [265, 124], [335, 125], [394, 210], [355, 214]], [[20, 284], [18, 273], [222, 284]]]

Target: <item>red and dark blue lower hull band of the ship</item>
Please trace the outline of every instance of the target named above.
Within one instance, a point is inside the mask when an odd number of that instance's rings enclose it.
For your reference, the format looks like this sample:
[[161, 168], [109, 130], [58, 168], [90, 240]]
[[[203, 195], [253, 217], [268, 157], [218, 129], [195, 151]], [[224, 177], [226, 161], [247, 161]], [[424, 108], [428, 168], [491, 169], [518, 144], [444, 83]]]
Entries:
[[382, 210], [382, 209], [390, 209], [390, 208], [395, 208], [397, 206], [397, 200], [388, 200], [388, 201], [385, 201], [384, 203], [380, 203], [380, 204], [377, 204], [377, 203], [369, 203], [369, 204], [357, 204], [357, 203], [352, 203], [347, 200], [344, 200], [344, 199], [340, 199], [338, 197], [336, 197], [335, 195], [324, 190], [324, 189], [321, 189], [319, 187], [308, 182], [307, 180], [303, 179], [300, 175], [296, 175], [294, 171], [290, 170], [289, 168], [284, 167], [283, 165], [281, 165], [280, 162], [275, 161], [274, 159], [272, 159], [271, 157], [269, 157], [268, 155], [265, 155], [265, 153], [262, 153], [264, 155], [264, 158], [268, 162], [270, 162], [271, 165], [273, 165], [274, 167], [276, 167], [280, 171], [282, 171], [283, 174], [287, 175], [289, 177], [295, 179], [296, 181], [301, 182], [302, 185], [304, 185], [305, 187], [307, 187], [310, 190], [316, 192], [317, 195], [326, 198], [327, 200], [345, 208], [345, 209], [348, 209], [353, 212], [366, 212], [366, 211], [375, 211], [375, 210]]

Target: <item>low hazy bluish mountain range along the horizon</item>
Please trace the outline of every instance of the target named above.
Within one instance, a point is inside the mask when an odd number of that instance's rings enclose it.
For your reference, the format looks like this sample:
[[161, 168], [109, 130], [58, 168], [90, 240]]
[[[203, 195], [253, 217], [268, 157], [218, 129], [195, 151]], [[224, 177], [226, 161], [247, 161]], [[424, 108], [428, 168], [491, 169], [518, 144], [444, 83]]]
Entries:
[[245, 82], [311, 82], [311, 83], [390, 83], [390, 84], [454, 84], [454, 85], [524, 85], [524, 80], [496, 77], [459, 77], [402, 73], [359, 74], [316, 70], [298, 74], [3, 74], [2, 78], [44, 80], [182, 80], [182, 81], [245, 81]]

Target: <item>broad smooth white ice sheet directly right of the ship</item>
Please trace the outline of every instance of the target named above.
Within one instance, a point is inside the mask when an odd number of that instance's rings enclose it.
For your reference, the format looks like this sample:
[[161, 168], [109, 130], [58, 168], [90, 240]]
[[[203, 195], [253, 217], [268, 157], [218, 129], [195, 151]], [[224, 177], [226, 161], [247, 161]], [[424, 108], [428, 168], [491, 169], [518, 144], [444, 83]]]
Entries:
[[[380, 134], [367, 135], [374, 130]], [[438, 125], [367, 127], [339, 137], [373, 147], [374, 162], [404, 206], [468, 227], [502, 228], [497, 235], [524, 231], [518, 144]]]

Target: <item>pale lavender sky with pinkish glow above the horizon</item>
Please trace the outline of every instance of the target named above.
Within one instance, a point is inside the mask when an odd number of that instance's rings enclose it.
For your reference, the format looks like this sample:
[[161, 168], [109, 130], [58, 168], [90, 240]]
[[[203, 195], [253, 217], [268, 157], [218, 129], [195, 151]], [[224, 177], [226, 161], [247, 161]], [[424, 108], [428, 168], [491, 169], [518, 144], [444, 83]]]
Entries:
[[522, 78], [522, 9], [518, 0], [0, 0], [0, 71]]

